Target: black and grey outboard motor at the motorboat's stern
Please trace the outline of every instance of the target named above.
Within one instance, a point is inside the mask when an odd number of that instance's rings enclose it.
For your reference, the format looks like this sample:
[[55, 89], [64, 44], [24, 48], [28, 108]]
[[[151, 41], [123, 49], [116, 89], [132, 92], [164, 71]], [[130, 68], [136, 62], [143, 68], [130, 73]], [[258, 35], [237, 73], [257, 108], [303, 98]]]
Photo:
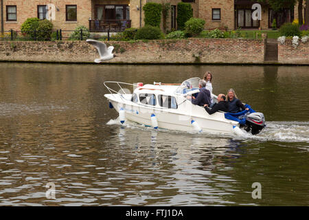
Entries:
[[260, 112], [254, 112], [247, 115], [244, 130], [247, 132], [251, 131], [253, 135], [256, 135], [260, 133], [262, 129], [264, 129], [264, 126], [266, 126], [264, 114]]

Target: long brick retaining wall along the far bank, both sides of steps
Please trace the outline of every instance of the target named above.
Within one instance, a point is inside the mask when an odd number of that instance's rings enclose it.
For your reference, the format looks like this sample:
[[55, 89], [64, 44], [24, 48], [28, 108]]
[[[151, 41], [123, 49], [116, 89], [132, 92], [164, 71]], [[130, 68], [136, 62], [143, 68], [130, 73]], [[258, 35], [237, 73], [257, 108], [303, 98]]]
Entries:
[[[117, 54], [105, 63], [309, 65], [309, 43], [278, 44], [278, 61], [265, 61], [264, 39], [106, 41]], [[0, 41], [0, 61], [94, 63], [97, 50], [85, 41]]]

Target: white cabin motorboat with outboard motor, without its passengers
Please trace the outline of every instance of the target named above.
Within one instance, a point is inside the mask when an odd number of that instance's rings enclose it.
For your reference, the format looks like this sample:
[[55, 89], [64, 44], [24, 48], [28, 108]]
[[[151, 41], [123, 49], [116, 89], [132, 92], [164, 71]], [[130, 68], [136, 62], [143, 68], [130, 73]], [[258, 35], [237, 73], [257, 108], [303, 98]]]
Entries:
[[[249, 111], [235, 115], [218, 111], [209, 115], [203, 107], [192, 104], [187, 96], [199, 92], [200, 78], [190, 78], [183, 83], [121, 83], [106, 81], [104, 85], [111, 94], [105, 94], [109, 106], [119, 113], [119, 121], [126, 120], [152, 126], [154, 129], [171, 129], [201, 133], [229, 133], [243, 135], [244, 131], [259, 133], [265, 126], [264, 115]], [[117, 85], [118, 91], [111, 88]], [[133, 87], [133, 93], [130, 89]], [[214, 94], [211, 94], [217, 102]], [[244, 116], [242, 116], [244, 115]], [[239, 119], [238, 117], [242, 117]], [[244, 127], [244, 130], [240, 129]]]

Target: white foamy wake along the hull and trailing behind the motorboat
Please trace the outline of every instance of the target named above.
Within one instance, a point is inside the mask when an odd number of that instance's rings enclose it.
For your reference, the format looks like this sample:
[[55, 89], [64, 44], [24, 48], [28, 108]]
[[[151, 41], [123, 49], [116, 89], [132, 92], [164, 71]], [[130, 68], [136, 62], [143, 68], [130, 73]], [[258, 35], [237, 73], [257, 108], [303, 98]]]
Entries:
[[[137, 124], [135, 122], [126, 121], [121, 124], [118, 119], [110, 120], [108, 125], [121, 125], [130, 129], [153, 130], [149, 126]], [[309, 143], [309, 122], [266, 122], [266, 127], [258, 135], [251, 135], [251, 133], [244, 133], [244, 135], [228, 135], [228, 134], [211, 134], [203, 133], [204, 137], [225, 137], [235, 138], [237, 140], [258, 140], [262, 142], [306, 142]], [[167, 129], [159, 129], [160, 132], [168, 133], [187, 133], [182, 131], [172, 131]]]

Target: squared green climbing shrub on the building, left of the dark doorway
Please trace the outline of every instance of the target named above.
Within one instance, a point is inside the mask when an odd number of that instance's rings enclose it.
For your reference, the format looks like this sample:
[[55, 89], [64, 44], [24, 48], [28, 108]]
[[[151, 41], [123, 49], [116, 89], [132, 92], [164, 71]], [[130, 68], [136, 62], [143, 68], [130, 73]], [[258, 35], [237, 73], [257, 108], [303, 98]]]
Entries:
[[145, 14], [145, 25], [160, 27], [162, 5], [160, 3], [148, 2], [143, 7]]

